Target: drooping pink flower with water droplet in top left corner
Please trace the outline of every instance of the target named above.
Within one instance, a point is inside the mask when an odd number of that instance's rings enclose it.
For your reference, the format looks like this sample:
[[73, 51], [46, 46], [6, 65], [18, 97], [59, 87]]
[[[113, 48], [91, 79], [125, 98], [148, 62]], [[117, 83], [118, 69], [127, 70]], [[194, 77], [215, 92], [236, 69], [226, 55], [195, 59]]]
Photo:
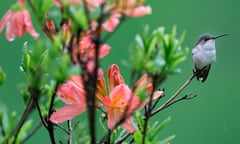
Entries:
[[[24, 6], [25, 1], [18, 1], [18, 4]], [[8, 10], [0, 21], [0, 33], [4, 27], [6, 27], [6, 38], [9, 41], [22, 37], [26, 32], [29, 32], [34, 39], [39, 37], [33, 28], [29, 12], [24, 8], [18, 11]]]

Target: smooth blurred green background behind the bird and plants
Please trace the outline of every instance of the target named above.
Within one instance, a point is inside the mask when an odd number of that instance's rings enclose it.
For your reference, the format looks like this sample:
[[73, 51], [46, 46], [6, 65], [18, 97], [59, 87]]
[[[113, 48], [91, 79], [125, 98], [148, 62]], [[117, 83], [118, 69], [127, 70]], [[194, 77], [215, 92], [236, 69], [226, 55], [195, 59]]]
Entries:
[[[0, 17], [14, 2], [0, 1]], [[125, 78], [130, 78], [130, 69], [122, 61], [128, 58], [128, 48], [143, 24], [149, 24], [151, 29], [165, 26], [167, 31], [176, 25], [179, 34], [184, 30], [187, 32], [183, 45], [190, 49], [203, 33], [228, 33], [229, 36], [216, 41], [217, 62], [214, 63], [208, 80], [205, 83], [194, 80], [182, 93], [192, 92], [198, 97], [178, 103], [162, 111], [154, 119], [162, 121], [171, 116], [171, 123], [159, 137], [175, 134], [176, 138], [172, 141], [174, 144], [239, 143], [240, 95], [237, 89], [240, 68], [237, 55], [240, 54], [240, 1], [148, 0], [147, 4], [152, 6], [152, 15], [127, 20], [108, 41], [112, 50], [103, 60], [103, 67], [106, 69], [112, 63], [117, 63]], [[23, 111], [18, 83], [25, 80], [19, 69], [21, 48], [25, 41], [31, 42], [32, 38], [27, 35], [8, 42], [5, 33], [0, 35], [0, 66], [7, 74], [4, 85], [0, 87], [0, 102], [8, 107], [9, 113], [16, 110], [20, 114]], [[166, 97], [171, 96], [190, 76], [193, 69], [190, 53], [180, 68], [181, 74], [170, 76], [161, 87], [166, 90]], [[46, 131], [41, 129], [27, 143], [49, 143]]]

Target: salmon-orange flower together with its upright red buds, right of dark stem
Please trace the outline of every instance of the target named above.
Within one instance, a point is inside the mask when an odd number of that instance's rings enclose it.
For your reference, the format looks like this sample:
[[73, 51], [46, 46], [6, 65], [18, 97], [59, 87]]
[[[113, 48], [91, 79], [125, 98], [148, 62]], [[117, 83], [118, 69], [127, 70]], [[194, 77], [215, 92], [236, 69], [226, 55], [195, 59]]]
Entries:
[[[136, 82], [133, 88], [130, 89], [125, 84], [116, 64], [110, 66], [107, 76], [109, 96], [107, 96], [105, 80], [103, 77], [100, 77], [97, 85], [97, 97], [102, 101], [106, 109], [108, 128], [114, 130], [116, 124], [124, 118], [124, 116], [127, 116], [124, 122], [121, 123], [121, 127], [128, 133], [133, 133], [135, 128], [132, 125], [133, 117], [131, 114], [136, 110], [142, 109], [150, 101], [149, 97], [141, 101], [138, 92], [146, 91], [150, 95], [153, 90], [151, 80], [147, 75], [144, 75]], [[162, 91], [154, 92], [153, 99], [159, 98], [162, 94]]]

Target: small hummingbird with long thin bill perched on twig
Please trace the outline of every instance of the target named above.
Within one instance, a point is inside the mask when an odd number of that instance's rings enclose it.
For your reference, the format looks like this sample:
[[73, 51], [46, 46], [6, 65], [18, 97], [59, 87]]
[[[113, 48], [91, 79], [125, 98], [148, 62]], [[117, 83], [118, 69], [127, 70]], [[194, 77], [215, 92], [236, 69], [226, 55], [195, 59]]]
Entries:
[[207, 79], [211, 64], [216, 61], [215, 40], [226, 35], [228, 34], [218, 36], [204, 34], [200, 36], [192, 49], [192, 59], [195, 65], [194, 73], [197, 80], [204, 82]]

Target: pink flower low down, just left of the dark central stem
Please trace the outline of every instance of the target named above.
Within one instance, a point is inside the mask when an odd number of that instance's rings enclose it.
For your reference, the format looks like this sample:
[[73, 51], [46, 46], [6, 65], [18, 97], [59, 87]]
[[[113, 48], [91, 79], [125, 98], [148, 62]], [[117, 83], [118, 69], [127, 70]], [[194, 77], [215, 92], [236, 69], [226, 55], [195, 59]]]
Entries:
[[70, 77], [67, 83], [58, 88], [57, 95], [66, 106], [51, 115], [50, 120], [53, 123], [58, 124], [71, 120], [87, 109], [85, 91], [80, 76]]

